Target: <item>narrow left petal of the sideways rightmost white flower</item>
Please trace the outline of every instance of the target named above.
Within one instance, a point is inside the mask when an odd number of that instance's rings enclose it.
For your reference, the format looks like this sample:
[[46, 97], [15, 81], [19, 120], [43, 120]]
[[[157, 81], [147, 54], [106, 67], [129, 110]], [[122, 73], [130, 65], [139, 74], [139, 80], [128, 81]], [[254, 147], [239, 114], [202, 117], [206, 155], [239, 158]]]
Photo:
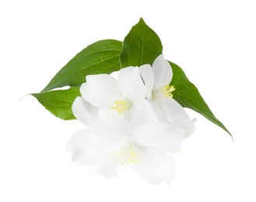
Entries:
[[149, 64], [144, 64], [139, 67], [139, 72], [146, 87], [146, 98], [151, 99], [154, 85], [152, 68]]

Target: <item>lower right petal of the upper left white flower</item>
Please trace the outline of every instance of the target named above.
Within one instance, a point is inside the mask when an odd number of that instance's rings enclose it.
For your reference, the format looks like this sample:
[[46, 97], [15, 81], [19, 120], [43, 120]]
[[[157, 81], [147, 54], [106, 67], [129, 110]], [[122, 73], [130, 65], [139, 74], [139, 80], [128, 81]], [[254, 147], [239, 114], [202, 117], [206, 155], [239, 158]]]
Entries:
[[135, 100], [130, 106], [129, 113], [131, 122], [135, 126], [156, 123], [155, 113], [146, 99]]

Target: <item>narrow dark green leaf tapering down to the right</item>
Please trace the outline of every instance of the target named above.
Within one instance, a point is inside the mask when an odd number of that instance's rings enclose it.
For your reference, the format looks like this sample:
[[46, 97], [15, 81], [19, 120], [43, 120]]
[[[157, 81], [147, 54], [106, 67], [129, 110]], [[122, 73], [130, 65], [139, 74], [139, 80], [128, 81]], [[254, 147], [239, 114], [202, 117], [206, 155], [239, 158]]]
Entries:
[[[173, 79], [170, 82], [170, 85], [174, 85], [175, 87], [173, 92], [174, 99], [180, 103], [181, 106], [195, 110], [230, 134], [230, 131], [213, 115], [209, 106], [207, 106], [205, 100], [198, 92], [198, 89], [188, 80], [184, 71], [177, 64], [170, 62], [170, 65], [174, 72]], [[231, 134], [230, 136], [232, 137]]]

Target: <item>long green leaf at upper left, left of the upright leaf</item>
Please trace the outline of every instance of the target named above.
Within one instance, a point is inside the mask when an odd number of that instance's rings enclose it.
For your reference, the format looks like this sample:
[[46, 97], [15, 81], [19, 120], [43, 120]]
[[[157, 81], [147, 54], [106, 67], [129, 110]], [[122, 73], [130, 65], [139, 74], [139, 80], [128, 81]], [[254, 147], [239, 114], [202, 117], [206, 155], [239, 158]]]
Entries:
[[42, 92], [66, 85], [79, 87], [86, 82], [86, 75], [110, 74], [120, 70], [121, 47], [122, 43], [118, 40], [100, 40], [89, 45], [68, 61]]

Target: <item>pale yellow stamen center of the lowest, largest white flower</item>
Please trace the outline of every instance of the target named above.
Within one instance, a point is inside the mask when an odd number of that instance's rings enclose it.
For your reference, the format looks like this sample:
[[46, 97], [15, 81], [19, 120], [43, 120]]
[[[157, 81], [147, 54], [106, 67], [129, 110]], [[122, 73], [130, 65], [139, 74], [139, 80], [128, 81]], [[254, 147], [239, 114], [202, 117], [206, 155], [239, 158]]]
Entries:
[[121, 165], [136, 164], [139, 162], [139, 147], [135, 143], [129, 142], [119, 149], [115, 155]]

